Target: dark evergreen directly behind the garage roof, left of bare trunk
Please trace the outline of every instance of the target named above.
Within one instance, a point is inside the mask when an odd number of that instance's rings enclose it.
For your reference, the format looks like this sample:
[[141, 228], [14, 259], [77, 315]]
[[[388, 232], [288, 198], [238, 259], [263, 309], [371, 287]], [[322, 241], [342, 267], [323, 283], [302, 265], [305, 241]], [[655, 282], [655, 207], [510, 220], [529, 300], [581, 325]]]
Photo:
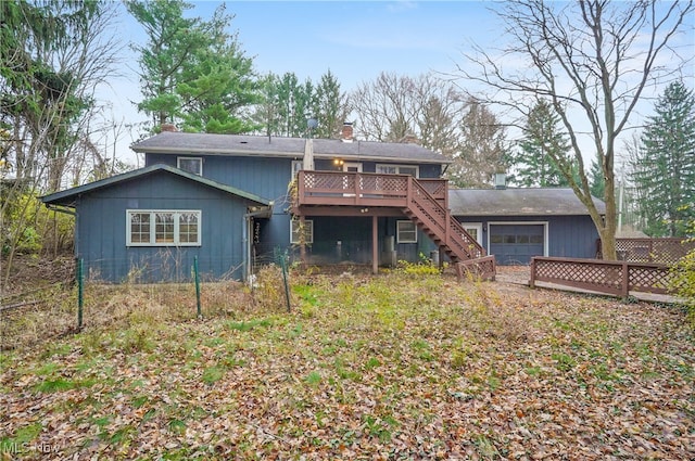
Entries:
[[515, 182], [527, 188], [569, 185], [558, 168], [558, 163], [572, 167], [570, 144], [559, 131], [559, 116], [544, 100], [531, 110], [520, 150], [511, 157], [517, 170]]

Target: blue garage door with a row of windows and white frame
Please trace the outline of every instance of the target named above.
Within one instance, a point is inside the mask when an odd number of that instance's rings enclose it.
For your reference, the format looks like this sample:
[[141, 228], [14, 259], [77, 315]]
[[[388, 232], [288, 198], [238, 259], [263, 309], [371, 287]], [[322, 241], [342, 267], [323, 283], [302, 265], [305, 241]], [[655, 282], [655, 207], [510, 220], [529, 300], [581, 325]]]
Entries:
[[526, 265], [543, 256], [543, 225], [491, 225], [490, 254], [498, 265]]

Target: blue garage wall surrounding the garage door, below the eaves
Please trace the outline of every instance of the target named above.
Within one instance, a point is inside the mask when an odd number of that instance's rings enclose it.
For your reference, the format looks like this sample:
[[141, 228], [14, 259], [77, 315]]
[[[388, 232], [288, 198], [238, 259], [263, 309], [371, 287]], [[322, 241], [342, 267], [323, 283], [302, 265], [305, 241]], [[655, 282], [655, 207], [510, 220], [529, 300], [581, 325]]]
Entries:
[[590, 216], [457, 216], [459, 222], [482, 222], [482, 243], [490, 249], [489, 223], [547, 222], [547, 256], [596, 257], [598, 232]]

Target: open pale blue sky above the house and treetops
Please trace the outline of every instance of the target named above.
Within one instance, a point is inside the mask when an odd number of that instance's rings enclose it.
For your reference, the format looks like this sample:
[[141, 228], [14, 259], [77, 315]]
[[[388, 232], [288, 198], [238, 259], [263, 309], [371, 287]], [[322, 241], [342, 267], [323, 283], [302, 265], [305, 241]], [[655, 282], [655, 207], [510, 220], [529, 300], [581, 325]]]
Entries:
[[[188, 15], [203, 18], [222, 3], [188, 1], [194, 5]], [[471, 43], [500, 44], [502, 37], [490, 1], [227, 1], [226, 5], [235, 15], [231, 31], [238, 33], [256, 72], [290, 72], [302, 81], [318, 82], [330, 69], [346, 92], [382, 72], [410, 77], [455, 74], [457, 65], [466, 66], [463, 53], [471, 50]], [[122, 17], [123, 39], [143, 43], [140, 25], [125, 12]], [[687, 40], [692, 49], [693, 34]], [[141, 99], [135, 54], [124, 73], [103, 98], [112, 101], [116, 121], [141, 121], [143, 115], [130, 103]], [[118, 151], [126, 151], [128, 159], [131, 141], [119, 141]]]

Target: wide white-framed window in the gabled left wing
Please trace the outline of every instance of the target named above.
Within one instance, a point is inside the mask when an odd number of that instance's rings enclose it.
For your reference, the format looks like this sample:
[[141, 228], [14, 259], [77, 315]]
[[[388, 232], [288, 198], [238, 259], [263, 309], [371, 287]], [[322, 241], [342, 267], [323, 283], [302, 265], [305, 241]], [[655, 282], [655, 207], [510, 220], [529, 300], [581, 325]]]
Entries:
[[201, 212], [126, 210], [127, 246], [200, 246]]

